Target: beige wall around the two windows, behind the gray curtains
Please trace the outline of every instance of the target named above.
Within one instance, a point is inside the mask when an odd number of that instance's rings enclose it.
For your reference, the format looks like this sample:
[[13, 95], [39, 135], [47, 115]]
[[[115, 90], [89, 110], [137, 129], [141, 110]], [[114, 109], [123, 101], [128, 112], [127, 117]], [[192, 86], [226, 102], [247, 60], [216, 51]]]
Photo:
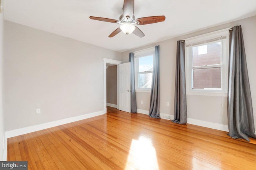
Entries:
[[[160, 45], [160, 113], [174, 114], [174, 81], [175, 81], [175, 65], [176, 65], [176, 42], [180, 39], [186, 39], [204, 33], [210, 33], [220, 29], [242, 25], [244, 44], [246, 49], [246, 59], [248, 65], [248, 73], [250, 78], [250, 87], [252, 93], [252, 104], [254, 109], [254, 122], [256, 122], [256, 16], [238, 20], [224, 25], [211, 27], [202, 31], [197, 31], [180, 37], [161, 41], [133, 49], [122, 53], [122, 62], [128, 62], [130, 52], [146, 49]], [[171, 31], [171, 30], [170, 30]], [[148, 103], [142, 105], [140, 100], [149, 102], [150, 93], [136, 92], [138, 109], [146, 109]], [[166, 102], [170, 102], [170, 106], [166, 106]], [[146, 107], [144, 107], [146, 106]], [[227, 97], [218, 96], [187, 96], [188, 118], [209, 121], [227, 125]]]

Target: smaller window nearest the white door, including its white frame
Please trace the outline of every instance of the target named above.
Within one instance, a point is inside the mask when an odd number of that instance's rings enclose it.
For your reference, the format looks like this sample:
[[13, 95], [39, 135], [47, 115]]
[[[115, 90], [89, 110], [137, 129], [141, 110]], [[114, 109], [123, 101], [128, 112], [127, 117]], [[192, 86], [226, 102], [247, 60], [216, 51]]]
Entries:
[[151, 90], [154, 49], [134, 53], [136, 91]]

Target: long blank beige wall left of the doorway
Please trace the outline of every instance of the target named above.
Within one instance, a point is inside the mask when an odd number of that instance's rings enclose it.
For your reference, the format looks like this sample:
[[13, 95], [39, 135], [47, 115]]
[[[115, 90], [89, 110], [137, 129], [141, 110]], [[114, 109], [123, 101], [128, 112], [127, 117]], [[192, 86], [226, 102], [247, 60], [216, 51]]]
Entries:
[[6, 131], [103, 110], [103, 58], [121, 53], [10, 21], [4, 36]]

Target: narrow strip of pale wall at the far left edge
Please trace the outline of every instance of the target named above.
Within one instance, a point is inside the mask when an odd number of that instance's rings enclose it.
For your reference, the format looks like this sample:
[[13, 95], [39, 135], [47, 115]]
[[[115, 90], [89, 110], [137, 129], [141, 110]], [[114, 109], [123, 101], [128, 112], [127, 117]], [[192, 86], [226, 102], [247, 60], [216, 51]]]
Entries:
[[4, 137], [4, 115], [3, 115], [3, 29], [4, 15], [0, 14], [0, 160], [3, 160], [3, 137]]

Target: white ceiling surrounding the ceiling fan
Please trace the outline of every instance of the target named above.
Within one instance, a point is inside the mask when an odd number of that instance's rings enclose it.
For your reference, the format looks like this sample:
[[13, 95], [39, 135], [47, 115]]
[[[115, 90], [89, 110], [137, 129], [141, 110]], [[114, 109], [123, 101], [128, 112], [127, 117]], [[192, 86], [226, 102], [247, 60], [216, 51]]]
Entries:
[[115, 51], [127, 51], [178, 35], [256, 15], [256, 0], [135, 0], [136, 18], [165, 15], [139, 25], [145, 37], [119, 33], [119, 25], [89, 16], [119, 19], [123, 0], [5, 0], [4, 19]]

